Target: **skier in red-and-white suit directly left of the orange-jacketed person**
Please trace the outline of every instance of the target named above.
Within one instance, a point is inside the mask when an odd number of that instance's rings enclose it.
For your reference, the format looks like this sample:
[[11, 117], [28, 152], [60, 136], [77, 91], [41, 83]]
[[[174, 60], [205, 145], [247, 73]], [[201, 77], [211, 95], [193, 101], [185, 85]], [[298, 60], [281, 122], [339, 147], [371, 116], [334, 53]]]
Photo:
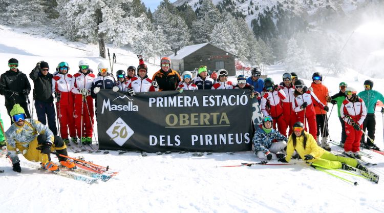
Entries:
[[308, 90], [301, 79], [295, 81], [294, 97], [292, 108], [297, 113], [297, 120], [304, 123], [304, 125], [306, 121], [308, 122], [309, 133], [316, 140], [317, 123], [313, 102], [316, 102], [327, 112], [329, 110], [328, 106], [324, 105], [312, 91]]

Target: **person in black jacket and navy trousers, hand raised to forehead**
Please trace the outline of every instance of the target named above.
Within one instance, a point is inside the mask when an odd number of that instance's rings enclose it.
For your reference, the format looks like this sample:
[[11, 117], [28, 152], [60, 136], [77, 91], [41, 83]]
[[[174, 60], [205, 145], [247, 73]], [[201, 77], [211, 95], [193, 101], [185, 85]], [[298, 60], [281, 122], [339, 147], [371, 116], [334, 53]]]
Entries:
[[56, 113], [52, 96], [53, 75], [49, 73], [48, 63], [45, 61], [38, 62], [29, 77], [33, 80], [35, 86], [33, 97], [35, 99], [37, 120], [44, 125], [47, 124], [48, 120], [49, 129], [54, 135], [57, 135]]

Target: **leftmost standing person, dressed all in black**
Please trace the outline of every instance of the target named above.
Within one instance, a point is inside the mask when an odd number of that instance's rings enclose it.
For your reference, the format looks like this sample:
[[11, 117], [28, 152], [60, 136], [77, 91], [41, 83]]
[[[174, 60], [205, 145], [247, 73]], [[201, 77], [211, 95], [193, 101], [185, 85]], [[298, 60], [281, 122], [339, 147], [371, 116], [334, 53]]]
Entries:
[[16, 103], [20, 104], [24, 109], [26, 117], [31, 118], [27, 104], [27, 96], [31, 91], [31, 84], [28, 81], [27, 75], [17, 69], [17, 59], [9, 59], [8, 67], [10, 69], [0, 76], [0, 94], [5, 96], [5, 107], [12, 124], [12, 117], [9, 113]]

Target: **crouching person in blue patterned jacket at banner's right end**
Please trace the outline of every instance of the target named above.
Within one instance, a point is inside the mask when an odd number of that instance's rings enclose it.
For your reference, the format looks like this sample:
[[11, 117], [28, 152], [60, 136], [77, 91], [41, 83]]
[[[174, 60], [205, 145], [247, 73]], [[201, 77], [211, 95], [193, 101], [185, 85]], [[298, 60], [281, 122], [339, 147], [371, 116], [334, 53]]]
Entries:
[[263, 118], [263, 124], [255, 131], [252, 142], [254, 153], [260, 159], [276, 160], [276, 153], [283, 151], [287, 146], [287, 137], [272, 129], [273, 119], [271, 116]]

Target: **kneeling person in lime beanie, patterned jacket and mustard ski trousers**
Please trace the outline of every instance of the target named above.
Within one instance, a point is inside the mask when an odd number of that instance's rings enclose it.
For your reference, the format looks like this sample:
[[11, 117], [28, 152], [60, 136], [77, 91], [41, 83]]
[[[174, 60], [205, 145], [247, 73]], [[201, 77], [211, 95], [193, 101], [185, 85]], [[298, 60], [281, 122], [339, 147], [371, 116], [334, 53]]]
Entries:
[[[67, 154], [67, 146], [63, 140], [53, 135], [48, 126], [35, 119], [26, 119], [25, 111], [19, 104], [15, 104], [10, 112], [13, 124], [5, 132], [8, 140], [8, 154], [12, 160], [13, 171], [21, 172], [20, 160], [16, 150], [30, 161], [41, 162], [41, 167], [50, 171], [59, 171], [57, 164], [51, 161], [51, 151], [61, 155]], [[57, 156], [62, 166], [75, 168], [73, 161]]]

